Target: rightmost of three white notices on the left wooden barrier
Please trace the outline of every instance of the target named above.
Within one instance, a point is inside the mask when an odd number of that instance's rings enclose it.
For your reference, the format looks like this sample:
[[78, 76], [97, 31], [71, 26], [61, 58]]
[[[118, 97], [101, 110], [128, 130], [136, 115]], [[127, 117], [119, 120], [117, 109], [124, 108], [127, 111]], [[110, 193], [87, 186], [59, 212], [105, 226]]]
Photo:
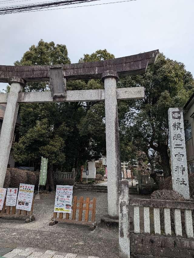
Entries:
[[20, 184], [16, 209], [31, 211], [34, 185]]

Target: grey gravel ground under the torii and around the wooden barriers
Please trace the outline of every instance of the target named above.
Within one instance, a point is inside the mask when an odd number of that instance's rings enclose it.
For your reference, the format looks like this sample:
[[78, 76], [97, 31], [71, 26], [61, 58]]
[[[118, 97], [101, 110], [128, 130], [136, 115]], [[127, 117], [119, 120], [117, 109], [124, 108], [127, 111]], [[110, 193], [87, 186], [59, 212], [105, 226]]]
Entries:
[[[25, 224], [20, 220], [0, 219], [0, 246], [15, 248], [26, 246], [43, 248], [84, 255], [118, 258], [118, 232], [102, 229], [98, 226], [100, 218], [107, 214], [107, 193], [74, 190], [78, 197], [96, 197], [95, 230], [82, 226], [72, 226], [58, 223], [49, 226], [53, 214], [55, 192], [48, 196], [41, 196], [35, 200], [34, 215], [36, 220]], [[143, 196], [146, 198], [148, 196]], [[141, 195], [131, 195], [131, 198], [142, 198]], [[131, 216], [133, 209], [131, 207]], [[143, 210], [140, 210], [140, 218]], [[142, 219], [141, 219], [142, 220]], [[142, 225], [143, 226], [143, 225]]]

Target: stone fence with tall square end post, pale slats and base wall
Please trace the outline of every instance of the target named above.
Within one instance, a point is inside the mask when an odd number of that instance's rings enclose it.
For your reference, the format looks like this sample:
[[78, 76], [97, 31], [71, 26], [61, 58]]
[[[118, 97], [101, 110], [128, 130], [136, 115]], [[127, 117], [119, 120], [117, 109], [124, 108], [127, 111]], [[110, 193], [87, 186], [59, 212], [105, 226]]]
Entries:
[[[138, 257], [142, 257], [141, 255], [193, 257], [186, 255], [188, 252], [191, 254], [190, 249], [194, 254], [193, 209], [194, 202], [189, 201], [129, 199], [128, 182], [120, 181], [119, 257], [129, 258], [130, 252], [133, 255], [138, 253], [140, 255]], [[133, 213], [133, 223], [130, 223], [129, 220], [132, 219]], [[129, 228], [130, 224], [134, 225], [134, 229]], [[182, 226], [184, 226], [184, 230], [182, 230]], [[172, 249], [169, 248], [171, 246]], [[166, 255], [164, 255], [165, 252]], [[172, 253], [172, 256], [171, 254], [167, 255], [169, 252]], [[178, 253], [179, 256], [173, 256], [173, 252]]]

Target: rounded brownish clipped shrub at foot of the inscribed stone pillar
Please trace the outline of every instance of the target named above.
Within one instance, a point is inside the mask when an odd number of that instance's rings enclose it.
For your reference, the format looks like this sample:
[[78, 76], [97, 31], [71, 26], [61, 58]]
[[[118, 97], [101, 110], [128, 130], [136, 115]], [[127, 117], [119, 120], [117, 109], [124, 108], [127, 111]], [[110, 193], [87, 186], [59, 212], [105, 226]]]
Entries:
[[173, 200], [173, 201], [185, 201], [185, 198], [176, 191], [173, 190], [156, 190], [150, 195], [151, 199], [158, 200]]

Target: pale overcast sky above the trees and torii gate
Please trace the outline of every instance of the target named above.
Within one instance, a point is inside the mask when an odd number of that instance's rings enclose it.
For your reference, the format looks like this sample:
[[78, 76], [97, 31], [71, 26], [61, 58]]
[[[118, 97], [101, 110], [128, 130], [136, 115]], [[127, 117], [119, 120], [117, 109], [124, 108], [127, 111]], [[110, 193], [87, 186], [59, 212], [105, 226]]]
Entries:
[[13, 65], [43, 39], [65, 44], [72, 63], [97, 49], [115, 57], [159, 49], [194, 74], [193, 11], [194, 0], [137, 0], [0, 16], [0, 64]]

